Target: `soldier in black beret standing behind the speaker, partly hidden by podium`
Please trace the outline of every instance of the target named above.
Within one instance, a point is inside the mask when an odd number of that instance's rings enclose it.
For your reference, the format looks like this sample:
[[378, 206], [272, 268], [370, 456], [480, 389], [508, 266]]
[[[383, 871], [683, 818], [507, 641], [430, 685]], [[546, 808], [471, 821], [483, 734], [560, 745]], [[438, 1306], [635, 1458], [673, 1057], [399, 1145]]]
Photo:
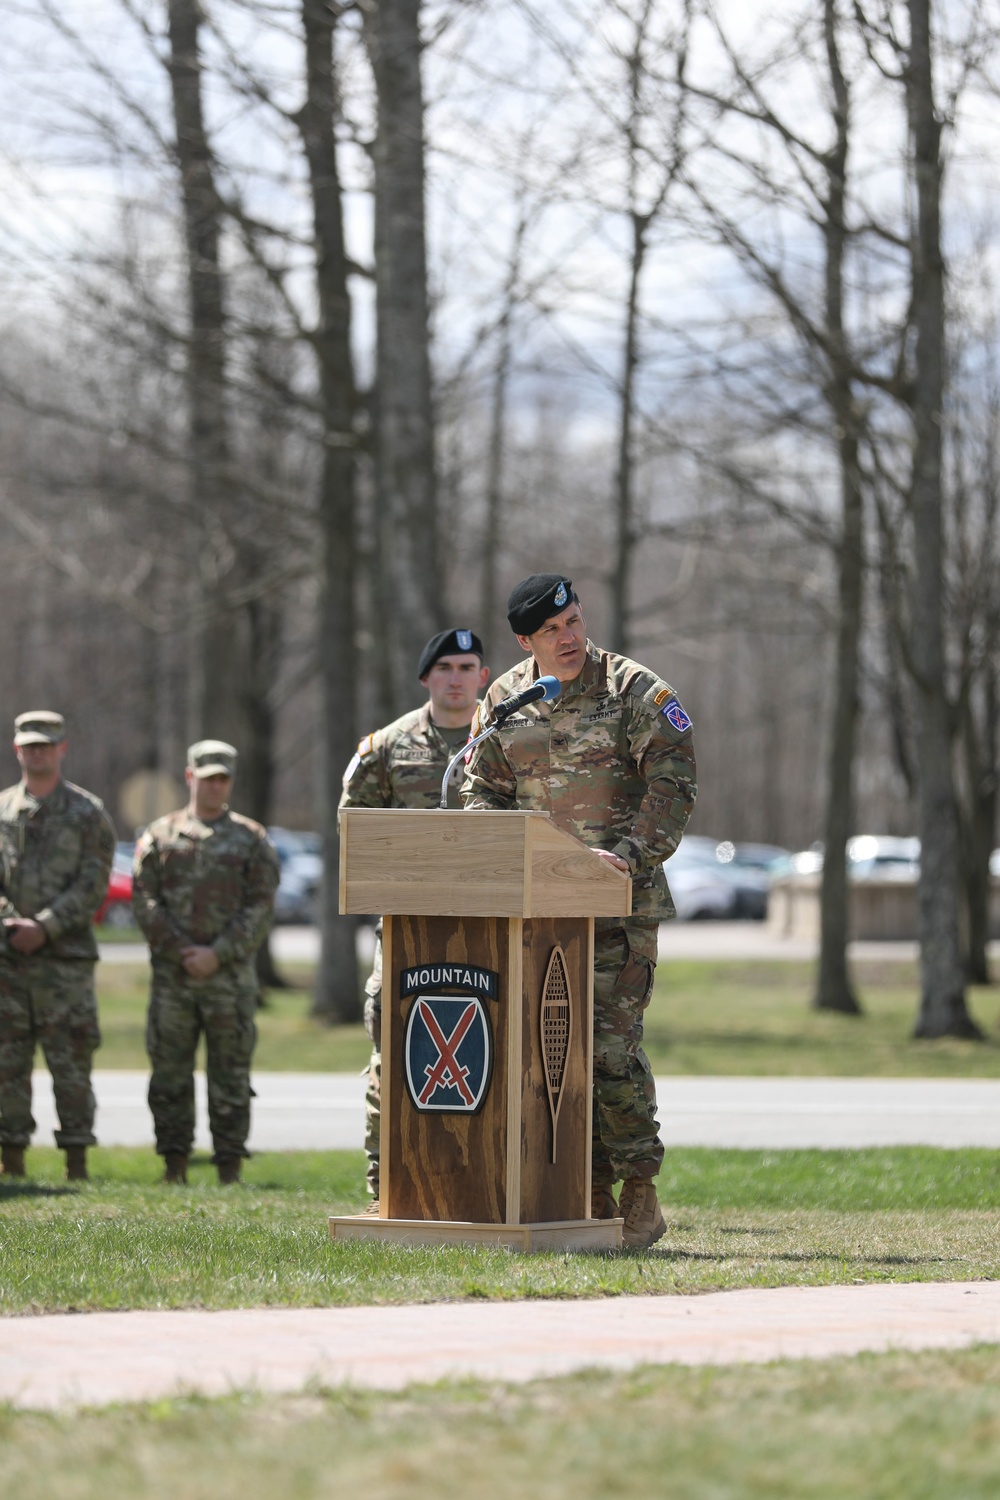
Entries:
[[[427, 702], [403, 714], [385, 729], [361, 740], [343, 774], [340, 808], [345, 807], [438, 807], [441, 778], [451, 756], [469, 738], [478, 694], [489, 682], [483, 664], [483, 642], [471, 630], [442, 630], [420, 654], [417, 676]], [[459, 762], [448, 783], [448, 807], [460, 807]], [[364, 1026], [372, 1038], [369, 1088], [364, 1096], [364, 1150], [367, 1185], [378, 1210], [378, 1162], [382, 1090], [382, 924], [375, 933], [375, 966], [364, 987]]]

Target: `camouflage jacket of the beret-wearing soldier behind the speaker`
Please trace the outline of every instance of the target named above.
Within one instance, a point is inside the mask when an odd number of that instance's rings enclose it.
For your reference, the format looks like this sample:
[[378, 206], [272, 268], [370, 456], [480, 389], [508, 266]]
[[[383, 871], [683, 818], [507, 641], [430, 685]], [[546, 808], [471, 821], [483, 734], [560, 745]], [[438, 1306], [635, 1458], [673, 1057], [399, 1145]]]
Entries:
[[[468, 736], [468, 730], [462, 734]], [[448, 744], [432, 720], [427, 702], [364, 736], [343, 772], [340, 807], [436, 807], [441, 777], [460, 748], [462, 736]], [[448, 807], [462, 806], [459, 786], [463, 771], [459, 760], [448, 783]]]

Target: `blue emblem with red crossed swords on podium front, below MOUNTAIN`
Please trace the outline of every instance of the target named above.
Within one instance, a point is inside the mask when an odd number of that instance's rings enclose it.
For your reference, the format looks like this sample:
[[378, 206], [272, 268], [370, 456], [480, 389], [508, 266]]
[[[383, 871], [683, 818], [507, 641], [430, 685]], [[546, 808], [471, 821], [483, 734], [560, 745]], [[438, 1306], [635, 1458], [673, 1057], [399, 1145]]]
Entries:
[[475, 1114], [493, 1072], [493, 1032], [478, 994], [418, 994], [403, 1032], [403, 1077], [421, 1113]]

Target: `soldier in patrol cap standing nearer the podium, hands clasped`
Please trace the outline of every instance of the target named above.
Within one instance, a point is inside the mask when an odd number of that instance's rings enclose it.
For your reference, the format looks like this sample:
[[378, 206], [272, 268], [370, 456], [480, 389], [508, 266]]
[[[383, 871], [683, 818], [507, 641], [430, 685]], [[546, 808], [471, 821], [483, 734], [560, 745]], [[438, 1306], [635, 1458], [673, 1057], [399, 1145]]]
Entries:
[[145, 1046], [165, 1182], [187, 1180], [195, 1050], [205, 1036], [208, 1124], [220, 1184], [240, 1180], [250, 1132], [259, 987], [253, 957], [271, 924], [279, 864], [264, 828], [229, 812], [237, 752], [187, 752], [187, 807], [157, 818], [135, 849], [132, 903], [153, 962]]

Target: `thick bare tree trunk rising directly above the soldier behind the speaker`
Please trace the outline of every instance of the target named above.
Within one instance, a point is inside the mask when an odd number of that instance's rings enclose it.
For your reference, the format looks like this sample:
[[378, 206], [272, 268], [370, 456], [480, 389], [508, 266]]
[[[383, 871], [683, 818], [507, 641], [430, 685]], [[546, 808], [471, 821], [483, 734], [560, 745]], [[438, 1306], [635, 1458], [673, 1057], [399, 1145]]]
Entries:
[[424, 231], [424, 102], [420, 0], [361, 10], [375, 93], [378, 546], [388, 560], [394, 696], [444, 621]]

